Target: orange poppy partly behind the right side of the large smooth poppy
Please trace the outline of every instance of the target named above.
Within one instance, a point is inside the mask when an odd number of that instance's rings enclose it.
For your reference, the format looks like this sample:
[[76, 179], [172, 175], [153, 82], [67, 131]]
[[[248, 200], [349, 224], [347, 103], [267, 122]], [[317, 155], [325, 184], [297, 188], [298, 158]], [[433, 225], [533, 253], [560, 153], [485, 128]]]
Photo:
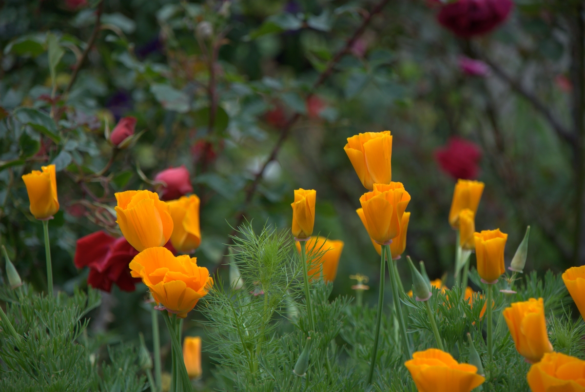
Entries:
[[197, 195], [183, 196], [178, 200], [167, 201], [173, 218], [171, 243], [181, 252], [191, 252], [201, 243], [199, 228], [199, 198]]

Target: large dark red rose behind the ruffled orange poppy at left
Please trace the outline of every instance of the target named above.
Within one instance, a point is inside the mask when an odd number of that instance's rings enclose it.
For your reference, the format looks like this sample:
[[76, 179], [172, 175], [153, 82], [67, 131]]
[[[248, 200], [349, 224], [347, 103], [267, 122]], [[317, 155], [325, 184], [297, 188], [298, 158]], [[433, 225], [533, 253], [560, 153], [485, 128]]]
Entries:
[[[177, 251], [170, 242], [165, 247], [173, 253]], [[130, 276], [128, 264], [138, 251], [123, 238], [115, 238], [103, 231], [86, 235], [77, 240], [75, 249], [75, 267], [90, 267], [87, 283], [108, 293], [112, 283], [116, 283], [122, 291], [134, 291], [140, 278]]]

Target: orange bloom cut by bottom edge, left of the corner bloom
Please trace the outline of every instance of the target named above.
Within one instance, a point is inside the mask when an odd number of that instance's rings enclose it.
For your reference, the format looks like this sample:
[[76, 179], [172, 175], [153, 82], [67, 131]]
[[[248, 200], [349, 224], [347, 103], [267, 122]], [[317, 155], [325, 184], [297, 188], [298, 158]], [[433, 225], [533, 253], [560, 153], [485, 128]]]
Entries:
[[438, 349], [415, 352], [404, 363], [418, 392], [470, 392], [486, 379], [477, 374], [477, 367], [458, 363]]

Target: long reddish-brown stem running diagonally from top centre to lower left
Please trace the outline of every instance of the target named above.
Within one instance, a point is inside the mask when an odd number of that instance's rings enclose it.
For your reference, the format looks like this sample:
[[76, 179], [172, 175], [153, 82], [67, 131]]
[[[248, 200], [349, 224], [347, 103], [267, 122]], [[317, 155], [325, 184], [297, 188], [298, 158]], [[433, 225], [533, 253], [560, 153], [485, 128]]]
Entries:
[[[384, 8], [384, 6], [386, 6], [388, 4], [388, 2], [390, 2], [390, 0], [381, 0], [376, 6], [374, 6], [374, 8], [371, 9], [371, 12], [366, 13], [366, 15], [364, 16], [364, 19], [362, 20], [362, 23], [359, 25], [359, 27], [357, 27], [357, 29], [355, 30], [353, 35], [351, 37], [349, 37], [349, 39], [347, 39], [345, 46], [343, 46], [343, 48], [341, 50], [339, 50], [335, 54], [335, 56], [333, 56], [333, 58], [331, 60], [329, 60], [329, 63], [327, 64], [327, 67], [325, 68], [325, 70], [322, 71], [321, 74], [319, 74], [319, 77], [317, 78], [317, 80], [315, 81], [315, 83], [312, 86], [312, 90], [311, 90], [312, 92], [311, 92], [311, 94], [309, 94], [309, 97], [311, 97], [311, 95], [314, 94], [314, 91], [316, 90], [317, 87], [319, 87], [321, 84], [323, 84], [325, 82], [325, 80], [327, 80], [327, 78], [329, 76], [331, 76], [331, 74], [333, 73], [333, 70], [335, 70], [335, 66], [339, 63], [339, 61], [342, 59], [342, 57], [345, 56], [345, 54], [349, 53], [349, 51], [352, 49], [353, 44], [363, 34], [363, 32], [366, 30], [367, 26], [370, 24], [373, 16], [376, 15], [377, 13], [381, 12], [382, 9]], [[276, 144], [274, 145], [269, 157], [266, 159], [266, 161], [264, 161], [264, 164], [262, 165], [261, 169], [254, 175], [254, 179], [252, 180], [252, 183], [250, 183], [250, 185], [247, 187], [246, 197], [244, 199], [242, 209], [240, 209], [240, 211], [236, 214], [236, 224], [233, 226], [234, 229], [232, 230], [232, 232], [230, 233], [230, 235], [228, 237], [227, 246], [229, 246], [230, 243], [232, 242], [232, 236], [236, 235], [236, 228], [238, 228], [238, 226], [240, 226], [245, 219], [246, 209], [249, 207], [250, 203], [252, 202], [254, 194], [256, 194], [257, 187], [260, 184], [260, 180], [261, 180], [262, 176], [264, 175], [264, 171], [266, 171], [266, 167], [271, 163], [271, 161], [276, 159], [278, 152], [280, 152], [280, 149], [281, 149], [284, 141], [287, 139], [288, 135], [290, 134], [290, 130], [291, 130], [292, 126], [300, 118], [301, 118], [300, 114], [298, 114], [298, 113], [295, 114], [294, 116], [292, 116], [292, 118], [290, 118], [285, 123], [283, 128], [281, 128], [280, 136], [278, 136], [278, 140], [277, 140]], [[225, 255], [227, 252], [223, 252], [223, 253]], [[222, 265], [223, 265], [223, 257], [221, 259], [221, 262], [216, 266], [215, 271], [217, 269], [219, 269], [219, 267], [221, 267]], [[215, 271], [214, 271], [214, 273], [215, 273]]]

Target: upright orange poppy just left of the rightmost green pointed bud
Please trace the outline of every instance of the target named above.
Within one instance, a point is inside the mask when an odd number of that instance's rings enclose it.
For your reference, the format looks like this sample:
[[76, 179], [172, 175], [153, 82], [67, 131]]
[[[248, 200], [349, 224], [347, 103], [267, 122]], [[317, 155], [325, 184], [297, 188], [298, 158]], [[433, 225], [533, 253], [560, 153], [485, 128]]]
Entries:
[[508, 235], [500, 229], [474, 233], [477, 259], [477, 273], [487, 283], [494, 283], [504, 269], [504, 248]]

